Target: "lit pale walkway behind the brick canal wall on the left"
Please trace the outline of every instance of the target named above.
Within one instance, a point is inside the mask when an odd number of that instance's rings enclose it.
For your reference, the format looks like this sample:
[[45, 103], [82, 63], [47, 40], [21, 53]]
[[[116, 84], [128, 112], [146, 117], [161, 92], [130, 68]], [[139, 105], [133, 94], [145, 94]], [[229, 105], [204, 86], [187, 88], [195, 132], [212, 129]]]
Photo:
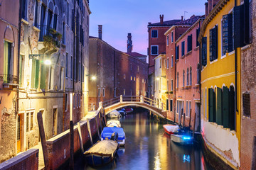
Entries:
[[[87, 115], [85, 115], [85, 117], [83, 117], [79, 121], [80, 124], [85, 123], [87, 119], [94, 118], [95, 114], [96, 114], [96, 111], [90, 111]], [[75, 125], [77, 125], [77, 123]], [[32, 147], [31, 149], [39, 149], [39, 154], [38, 154], [38, 170], [45, 169], [45, 164], [44, 164], [44, 161], [43, 161], [43, 149], [42, 149], [41, 142], [38, 142], [38, 145], [36, 145], [35, 147]]]

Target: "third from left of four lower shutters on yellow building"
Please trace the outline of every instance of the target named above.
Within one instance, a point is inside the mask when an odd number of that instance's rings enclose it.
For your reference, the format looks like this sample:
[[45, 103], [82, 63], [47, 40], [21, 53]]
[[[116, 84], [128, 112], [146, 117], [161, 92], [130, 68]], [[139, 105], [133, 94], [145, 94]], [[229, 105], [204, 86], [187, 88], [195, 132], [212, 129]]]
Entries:
[[228, 113], [229, 113], [229, 98], [228, 98], [229, 89], [226, 86], [223, 86], [223, 128], [228, 128]]

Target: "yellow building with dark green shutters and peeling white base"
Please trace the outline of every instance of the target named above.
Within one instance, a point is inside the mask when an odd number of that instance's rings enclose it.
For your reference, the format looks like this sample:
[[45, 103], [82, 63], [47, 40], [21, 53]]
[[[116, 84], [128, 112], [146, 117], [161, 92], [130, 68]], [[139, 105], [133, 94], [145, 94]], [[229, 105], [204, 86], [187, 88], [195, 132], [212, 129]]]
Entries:
[[[208, 149], [240, 166], [240, 0], [206, 3], [201, 42], [201, 133]], [[236, 66], [236, 67], [235, 67]], [[235, 74], [235, 70], [237, 71]]]

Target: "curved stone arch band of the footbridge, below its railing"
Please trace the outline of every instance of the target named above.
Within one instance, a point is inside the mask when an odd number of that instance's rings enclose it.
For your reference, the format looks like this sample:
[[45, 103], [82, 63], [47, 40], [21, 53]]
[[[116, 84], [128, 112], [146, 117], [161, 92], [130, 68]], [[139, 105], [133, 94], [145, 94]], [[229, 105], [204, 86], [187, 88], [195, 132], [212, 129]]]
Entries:
[[154, 106], [151, 106], [149, 104], [146, 103], [139, 103], [139, 102], [122, 102], [122, 103], [115, 103], [112, 106], [108, 106], [105, 108], [105, 112], [110, 113], [111, 111], [117, 110], [118, 108], [123, 108], [126, 106], [138, 106], [138, 107], [142, 107], [142, 108], [146, 108], [149, 111], [152, 111], [153, 113], [155, 113], [156, 115], [159, 115], [159, 117], [161, 118], [166, 118], [166, 112], [162, 111], [160, 108], [156, 108]]

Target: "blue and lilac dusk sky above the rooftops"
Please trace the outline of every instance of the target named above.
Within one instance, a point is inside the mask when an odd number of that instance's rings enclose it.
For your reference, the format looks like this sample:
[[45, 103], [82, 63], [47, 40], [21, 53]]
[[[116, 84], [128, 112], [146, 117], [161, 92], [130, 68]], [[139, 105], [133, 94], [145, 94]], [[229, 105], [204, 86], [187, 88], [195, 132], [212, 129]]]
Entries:
[[190, 18], [204, 15], [207, 0], [90, 0], [89, 34], [98, 37], [98, 25], [102, 25], [102, 40], [117, 50], [127, 52], [127, 34], [132, 33], [133, 52], [147, 55], [149, 22]]

